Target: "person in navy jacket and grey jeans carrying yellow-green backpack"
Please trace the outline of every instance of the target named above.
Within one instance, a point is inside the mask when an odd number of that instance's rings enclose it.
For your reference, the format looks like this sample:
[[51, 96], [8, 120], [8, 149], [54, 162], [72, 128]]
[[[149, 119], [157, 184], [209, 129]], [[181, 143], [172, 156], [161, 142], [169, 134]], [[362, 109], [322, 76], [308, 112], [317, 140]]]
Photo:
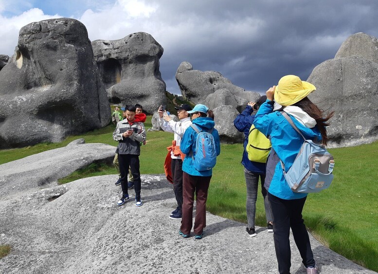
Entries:
[[256, 215], [256, 200], [259, 177], [261, 181], [261, 193], [264, 197], [265, 216], [267, 219], [268, 232], [273, 232], [273, 217], [271, 214], [270, 203], [268, 201], [267, 190], [264, 188], [265, 163], [250, 161], [248, 159], [248, 154], [246, 151], [250, 129], [254, 121], [254, 114], [252, 115], [253, 109], [258, 110], [258, 108], [262, 103], [266, 101], [266, 99], [266, 96], [262, 96], [256, 103], [248, 103], [246, 109], [242, 113], [238, 114], [234, 120], [235, 128], [240, 132], [244, 132], [244, 151], [241, 163], [244, 166], [244, 177], [247, 186], [246, 209], [248, 225], [246, 227], [246, 231], [250, 237], [256, 236], [254, 221]]

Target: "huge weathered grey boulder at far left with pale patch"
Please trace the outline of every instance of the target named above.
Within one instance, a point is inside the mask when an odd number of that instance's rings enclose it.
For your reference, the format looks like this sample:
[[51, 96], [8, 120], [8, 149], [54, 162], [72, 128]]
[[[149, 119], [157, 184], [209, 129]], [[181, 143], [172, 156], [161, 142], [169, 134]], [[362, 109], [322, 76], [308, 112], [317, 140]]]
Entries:
[[108, 125], [110, 107], [85, 26], [70, 18], [21, 28], [0, 71], [0, 148], [59, 142]]

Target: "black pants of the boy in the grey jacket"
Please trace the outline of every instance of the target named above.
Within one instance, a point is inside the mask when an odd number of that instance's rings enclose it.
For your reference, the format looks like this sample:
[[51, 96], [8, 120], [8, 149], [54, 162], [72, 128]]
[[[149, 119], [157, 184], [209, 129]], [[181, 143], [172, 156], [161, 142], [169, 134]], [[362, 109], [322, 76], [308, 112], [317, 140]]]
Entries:
[[127, 192], [127, 175], [128, 167], [130, 166], [131, 174], [134, 177], [134, 190], [136, 198], [141, 197], [141, 173], [139, 171], [139, 155], [132, 154], [118, 154], [118, 162], [121, 172], [121, 187], [124, 196]]

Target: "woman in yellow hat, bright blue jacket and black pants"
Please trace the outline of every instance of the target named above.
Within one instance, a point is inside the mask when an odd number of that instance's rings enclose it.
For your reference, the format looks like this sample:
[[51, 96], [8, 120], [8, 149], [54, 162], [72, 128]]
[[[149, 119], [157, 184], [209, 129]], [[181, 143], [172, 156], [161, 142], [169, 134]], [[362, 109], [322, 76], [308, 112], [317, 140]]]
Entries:
[[[267, 161], [265, 187], [273, 213], [274, 247], [280, 274], [290, 273], [290, 227], [307, 274], [317, 273], [308, 233], [302, 219], [307, 194], [291, 191], [279, 162], [284, 162], [287, 172], [304, 143], [302, 136], [291, 127], [280, 111], [289, 114], [306, 139], [327, 144], [326, 126], [329, 125], [327, 121], [333, 113], [324, 118], [323, 111], [307, 98], [314, 90], [314, 85], [301, 81], [297, 76], [284, 76], [277, 86], [267, 91], [267, 101], [261, 105], [254, 120], [256, 129], [264, 133], [272, 145]], [[273, 100], [282, 106], [279, 111], [273, 112]]]

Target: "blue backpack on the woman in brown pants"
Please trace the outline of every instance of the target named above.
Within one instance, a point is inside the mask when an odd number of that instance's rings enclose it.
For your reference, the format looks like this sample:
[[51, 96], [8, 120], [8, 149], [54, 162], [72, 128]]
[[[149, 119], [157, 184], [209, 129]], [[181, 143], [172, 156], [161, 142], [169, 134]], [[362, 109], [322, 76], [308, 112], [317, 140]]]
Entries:
[[213, 129], [210, 132], [202, 131], [196, 125], [190, 125], [196, 132], [196, 154], [192, 153], [194, 167], [198, 171], [205, 171], [212, 169], [216, 164], [216, 145], [214, 141]]

